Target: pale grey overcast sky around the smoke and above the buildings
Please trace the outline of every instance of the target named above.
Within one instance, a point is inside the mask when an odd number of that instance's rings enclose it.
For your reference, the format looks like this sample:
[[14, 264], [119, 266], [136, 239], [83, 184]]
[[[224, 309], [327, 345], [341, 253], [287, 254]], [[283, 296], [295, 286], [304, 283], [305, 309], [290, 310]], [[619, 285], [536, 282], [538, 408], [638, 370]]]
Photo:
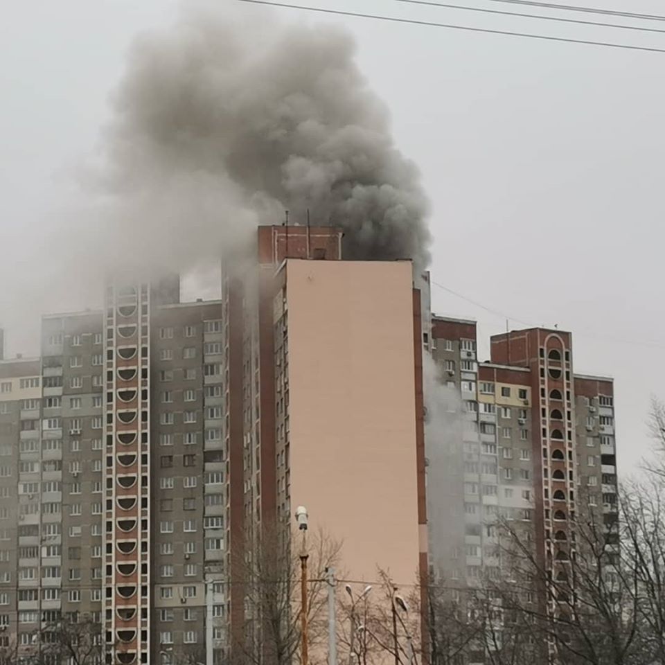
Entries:
[[[490, 0], [459, 3], [538, 11]], [[665, 48], [665, 35], [392, 0], [308, 4]], [[177, 3], [2, 6], [0, 262], [12, 265], [21, 245], [39, 242], [39, 229], [74, 195], [73, 172], [108, 118], [108, 95], [132, 37], [168, 26]], [[594, 6], [665, 14], [657, 0]], [[575, 371], [615, 379], [619, 462], [635, 469], [650, 445], [650, 394], [665, 398], [665, 53], [276, 11], [287, 21], [342, 23], [357, 38], [360, 67], [389, 106], [398, 147], [422, 170], [432, 200], [432, 278], [464, 296], [435, 286], [434, 311], [477, 319], [481, 357], [489, 335], [505, 330], [506, 316], [511, 328], [571, 330]], [[12, 283], [35, 274], [48, 275], [48, 266], [26, 259], [18, 271], [0, 267], [0, 319], [10, 318]], [[44, 278], [26, 305], [35, 330], [48, 291]], [[34, 351], [25, 330], [10, 331], [10, 351]]]

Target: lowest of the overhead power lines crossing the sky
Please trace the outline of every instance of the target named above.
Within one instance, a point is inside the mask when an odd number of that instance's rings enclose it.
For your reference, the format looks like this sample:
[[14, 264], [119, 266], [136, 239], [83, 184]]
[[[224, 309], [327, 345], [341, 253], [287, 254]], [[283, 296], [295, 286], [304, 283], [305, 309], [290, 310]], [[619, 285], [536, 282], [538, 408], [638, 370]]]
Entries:
[[533, 33], [520, 33], [514, 30], [495, 30], [493, 28], [474, 28], [472, 26], [460, 26], [449, 23], [437, 23], [436, 21], [418, 21], [416, 19], [404, 19], [380, 14], [362, 14], [360, 12], [344, 12], [337, 9], [326, 9], [323, 7], [310, 7], [304, 5], [292, 5], [285, 2], [272, 2], [270, 0], [238, 0], [254, 5], [265, 5], [268, 7], [283, 7], [286, 9], [299, 9], [306, 12], [319, 12], [321, 14], [334, 14], [337, 16], [349, 16], [361, 19], [376, 19], [378, 21], [390, 21], [392, 23], [404, 23], [414, 26], [428, 26], [432, 28], [450, 28], [451, 30], [465, 30], [472, 33], [486, 33], [488, 35], [507, 35], [509, 37], [526, 37], [528, 39], [543, 39], [546, 42], [568, 42], [569, 44], [585, 44], [587, 46], [608, 46], [609, 48], [625, 48], [629, 51], [646, 51], [648, 53], [665, 53], [665, 48], [650, 46], [634, 46], [632, 44], [615, 44], [614, 42], [594, 42], [590, 39], [569, 39], [568, 37], [552, 37], [550, 35], [535, 35]]

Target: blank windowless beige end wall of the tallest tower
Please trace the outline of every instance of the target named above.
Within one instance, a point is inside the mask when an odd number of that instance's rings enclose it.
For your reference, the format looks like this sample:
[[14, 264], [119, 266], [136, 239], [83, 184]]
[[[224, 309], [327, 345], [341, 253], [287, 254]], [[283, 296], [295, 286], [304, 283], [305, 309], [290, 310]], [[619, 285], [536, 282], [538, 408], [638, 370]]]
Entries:
[[290, 498], [356, 580], [414, 583], [411, 263], [288, 260]]

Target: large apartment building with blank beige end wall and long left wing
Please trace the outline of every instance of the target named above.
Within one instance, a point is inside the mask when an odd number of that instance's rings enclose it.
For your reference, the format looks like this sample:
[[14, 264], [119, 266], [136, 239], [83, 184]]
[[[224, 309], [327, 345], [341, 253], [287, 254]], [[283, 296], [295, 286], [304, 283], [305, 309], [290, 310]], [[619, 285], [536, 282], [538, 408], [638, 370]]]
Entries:
[[425, 574], [411, 272], [263, 227], [219, 301], [125, 281], [45, 316], [41, 357], [0, 361], [0, 639], [47, 654], [85, 619], [109, 663], [222, 662], [253, 619], [238, 553], [299, 504], [354, 580]]

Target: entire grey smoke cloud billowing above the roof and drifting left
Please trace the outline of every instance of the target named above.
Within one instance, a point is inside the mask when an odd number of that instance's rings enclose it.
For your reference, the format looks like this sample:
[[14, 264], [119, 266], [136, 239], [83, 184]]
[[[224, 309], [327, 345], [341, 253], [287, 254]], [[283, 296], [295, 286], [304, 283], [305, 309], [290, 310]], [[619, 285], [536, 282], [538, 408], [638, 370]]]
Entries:
[[351, 36], [229, 10], [188, 2], [135, 40], [74, 204], [6, 242], [0, 326], [15, 351], [35, 346], [43, 312], [99, 306], [108, 276], [205, 276], [253, 256], [256, 226], [285, 210], [343, 227], [347, 258], [429, 263], [418, 170]]

